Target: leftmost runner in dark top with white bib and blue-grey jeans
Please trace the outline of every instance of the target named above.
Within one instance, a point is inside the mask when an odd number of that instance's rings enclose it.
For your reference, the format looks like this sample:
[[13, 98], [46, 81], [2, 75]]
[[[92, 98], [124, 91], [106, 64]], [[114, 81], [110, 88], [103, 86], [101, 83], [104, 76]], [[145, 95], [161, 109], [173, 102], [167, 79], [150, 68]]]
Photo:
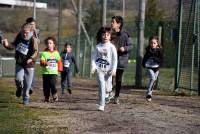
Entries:
[[16, 36], [14, 42], [9, 44], [7, 39], [3, 39], [3, 46], [8, 50], [15, 50], [15, 83], [16, 96], [23, 96], [23, 104], [29, 104], [29, 90], [34, 73], [34, 65], [38, 56], [37, 39], [32, 36], [32, 27], [25, 23], [21, 31]]

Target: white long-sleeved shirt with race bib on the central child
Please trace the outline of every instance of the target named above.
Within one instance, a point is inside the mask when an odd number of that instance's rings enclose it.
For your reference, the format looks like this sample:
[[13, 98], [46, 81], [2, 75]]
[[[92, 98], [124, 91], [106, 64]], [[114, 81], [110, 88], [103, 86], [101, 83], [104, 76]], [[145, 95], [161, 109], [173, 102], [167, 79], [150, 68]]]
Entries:
[[109, 71], [117, 69], [117, 50], [115, 46], [108, 42], [99, 43], [93, 51], [92, 69], [97, 71]]

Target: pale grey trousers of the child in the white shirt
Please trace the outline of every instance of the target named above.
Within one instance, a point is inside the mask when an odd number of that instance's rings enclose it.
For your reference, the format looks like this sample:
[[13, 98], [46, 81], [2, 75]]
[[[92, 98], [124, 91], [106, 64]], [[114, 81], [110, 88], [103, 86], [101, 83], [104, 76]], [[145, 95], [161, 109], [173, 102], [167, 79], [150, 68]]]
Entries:
[[105, 106], [106, 91], [112, 90], [112, 76], [107, 72], [97, 71], [97, 81], [99, 85], [99, 105]]

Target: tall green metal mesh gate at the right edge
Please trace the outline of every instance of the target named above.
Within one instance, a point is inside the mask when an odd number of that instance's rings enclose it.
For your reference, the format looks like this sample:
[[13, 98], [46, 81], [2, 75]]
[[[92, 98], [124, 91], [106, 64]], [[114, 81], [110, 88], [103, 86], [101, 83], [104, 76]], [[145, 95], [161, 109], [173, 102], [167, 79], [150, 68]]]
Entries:
[[[179, 0], [175, 89], [199, 89], [200, 0]], [[199, 90], [198, 90], [199, 89]]]

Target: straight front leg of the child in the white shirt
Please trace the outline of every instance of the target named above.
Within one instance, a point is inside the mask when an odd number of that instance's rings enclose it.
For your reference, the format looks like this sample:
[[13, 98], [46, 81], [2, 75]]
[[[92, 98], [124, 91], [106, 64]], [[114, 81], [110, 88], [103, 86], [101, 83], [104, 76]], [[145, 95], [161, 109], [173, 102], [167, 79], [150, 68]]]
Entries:
[[97, 81], [99, 85], [99, 105], [105, 106], [105, 73], [97, 72]]

